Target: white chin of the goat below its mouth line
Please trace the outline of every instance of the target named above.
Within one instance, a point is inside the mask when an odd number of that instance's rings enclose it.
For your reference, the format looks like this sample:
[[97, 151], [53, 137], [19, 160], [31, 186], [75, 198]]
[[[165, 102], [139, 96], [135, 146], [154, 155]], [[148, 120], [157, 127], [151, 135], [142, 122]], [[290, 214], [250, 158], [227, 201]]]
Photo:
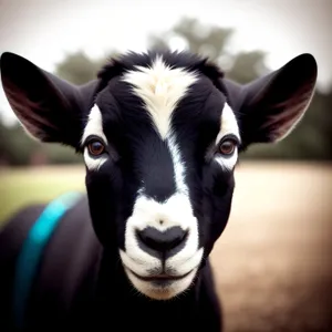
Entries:
[[125, 268], [125, 271], [138, 292], [154, 300], [169, 300], [183, 293], [190, 287], [197, 273], [197, 269], [198, 268], [195, 268], [181, 279], [169, 281], [146, 281], [136, 277], [127, 268]]

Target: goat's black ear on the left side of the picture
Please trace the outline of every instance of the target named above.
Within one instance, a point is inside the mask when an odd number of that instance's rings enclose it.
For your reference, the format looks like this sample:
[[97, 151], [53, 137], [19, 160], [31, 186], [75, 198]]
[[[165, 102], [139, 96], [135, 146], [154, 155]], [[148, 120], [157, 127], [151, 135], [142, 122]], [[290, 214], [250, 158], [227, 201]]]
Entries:
[[0, 66], [4, 94], [27, 132], [42, 142], [77, 147], [96, 83], [72, 85], [9, 52]]

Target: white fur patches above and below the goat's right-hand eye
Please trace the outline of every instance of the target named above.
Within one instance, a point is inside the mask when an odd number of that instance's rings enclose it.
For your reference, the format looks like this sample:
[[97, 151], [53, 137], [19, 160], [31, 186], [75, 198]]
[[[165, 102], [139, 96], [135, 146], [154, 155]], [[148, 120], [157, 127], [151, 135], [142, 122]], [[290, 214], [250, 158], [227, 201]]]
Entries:
[[[218, 145], [226, 135], [235, 135], [239, 142], [241, 141], [237, 118], [227, 103], [225, 103], [221, 113], [221, 127], [216, 139], [216, 145]], [[238, 148], [236, 148], [234, 154], [229, 157], [217, 155], [215, 159], [222, 168], [232, 170], [238, 160]]]

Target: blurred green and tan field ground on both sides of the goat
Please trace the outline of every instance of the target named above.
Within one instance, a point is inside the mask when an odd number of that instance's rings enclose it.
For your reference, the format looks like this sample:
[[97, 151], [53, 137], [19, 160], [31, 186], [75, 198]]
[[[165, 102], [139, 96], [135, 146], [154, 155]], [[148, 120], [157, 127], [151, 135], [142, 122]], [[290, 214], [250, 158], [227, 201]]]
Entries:
[[[332, 166], [243, 163], [211, 255], [226, 331], [332, 331]], [[84, 190], [84, 168], [3, 169], [0, 222]]]

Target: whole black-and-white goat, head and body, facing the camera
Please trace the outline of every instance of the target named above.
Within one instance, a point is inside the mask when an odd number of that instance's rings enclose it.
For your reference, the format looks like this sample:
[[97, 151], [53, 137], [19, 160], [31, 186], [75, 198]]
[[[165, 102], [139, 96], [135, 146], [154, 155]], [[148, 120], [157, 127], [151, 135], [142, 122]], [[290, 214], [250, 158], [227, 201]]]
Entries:
[[[313, 56], [239, 85], [188, 52], [127, 53], [74, 86], [3, 53], [1, 79], [28, 133], [83, 154], [87, 196], [68, 211], [70, 199], [53, 206], [63, 215], [42, 249], [51, 226], [34, 242], [31, 229], [45, 206], [7, 222], [0, 330], [221, 331], [209, 253], [229, 218], [238, 154], [299, 123]], [[28, 234], [34, 247], [22, 256]]]

